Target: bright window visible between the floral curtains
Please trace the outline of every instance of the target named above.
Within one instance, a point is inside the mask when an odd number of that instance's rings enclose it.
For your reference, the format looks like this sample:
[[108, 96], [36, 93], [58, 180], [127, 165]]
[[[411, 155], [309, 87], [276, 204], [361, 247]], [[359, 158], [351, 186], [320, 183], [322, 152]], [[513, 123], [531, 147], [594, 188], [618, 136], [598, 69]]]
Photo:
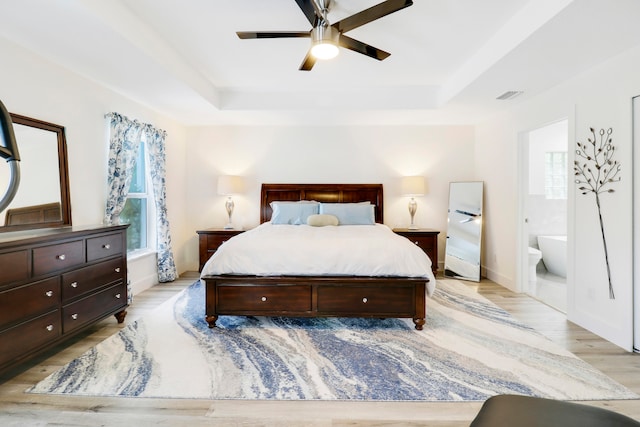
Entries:
[[129, 194], [124, 209], [120, 213], [120, 222], [129, 224], [127, 228], [127, 253], [153, 250], [153, 194], [150, 191], [149, 163], [145, 139], [142, 139], [136, 157]]

